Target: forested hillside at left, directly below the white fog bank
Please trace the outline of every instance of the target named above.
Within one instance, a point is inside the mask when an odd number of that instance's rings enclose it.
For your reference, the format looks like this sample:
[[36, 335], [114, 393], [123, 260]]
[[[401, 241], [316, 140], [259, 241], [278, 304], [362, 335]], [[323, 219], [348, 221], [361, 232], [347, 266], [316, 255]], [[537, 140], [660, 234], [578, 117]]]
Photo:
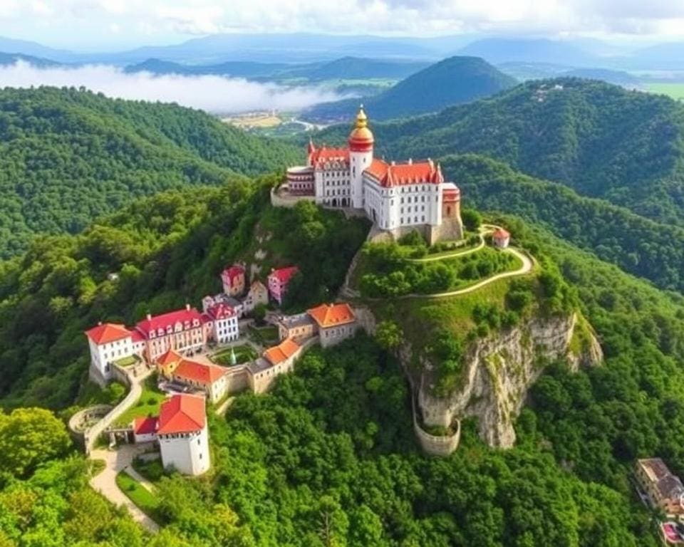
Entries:
[[299, 151], [177, 105], [76, 90], [0, 91], [0, 258], [78, 233], [141, 196], [274, 172]]

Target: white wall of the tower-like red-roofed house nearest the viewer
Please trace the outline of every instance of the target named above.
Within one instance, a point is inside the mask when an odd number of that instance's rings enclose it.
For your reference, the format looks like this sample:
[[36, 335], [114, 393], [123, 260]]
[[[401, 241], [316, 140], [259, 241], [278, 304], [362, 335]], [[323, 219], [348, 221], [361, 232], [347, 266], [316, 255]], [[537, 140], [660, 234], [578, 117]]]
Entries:
[[207, 426], [194, 433], [159, 435], [162, 465], [185, 475], [201, 475], [209, 469]]

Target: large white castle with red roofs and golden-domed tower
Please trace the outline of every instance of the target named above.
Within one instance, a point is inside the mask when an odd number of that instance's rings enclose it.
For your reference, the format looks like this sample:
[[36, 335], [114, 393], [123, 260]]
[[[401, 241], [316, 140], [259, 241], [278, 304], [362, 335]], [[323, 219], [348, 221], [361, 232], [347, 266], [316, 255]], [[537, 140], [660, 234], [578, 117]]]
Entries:
[[460, 239], [460, 190], [445, 182], [440, 165], [432, 160], [385, 162], [373, 157], [374, 142], [361, 107], [348, 147], [316, 147], [310, 141], [306, 165], [287, 170], [274, 204], [309, 199], [324, 207], [361, 210], [380, 231], [395, 237], [417, 230], [429, 244]]

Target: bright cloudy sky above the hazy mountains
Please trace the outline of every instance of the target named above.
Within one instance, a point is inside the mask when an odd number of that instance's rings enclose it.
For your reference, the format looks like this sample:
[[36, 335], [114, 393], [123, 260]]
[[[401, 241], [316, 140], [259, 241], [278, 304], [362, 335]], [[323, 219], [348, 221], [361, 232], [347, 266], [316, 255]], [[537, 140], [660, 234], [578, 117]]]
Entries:
[[93, 51], [219, 32], [684, 38], [684, 0], [0, 0], [0, 36]]

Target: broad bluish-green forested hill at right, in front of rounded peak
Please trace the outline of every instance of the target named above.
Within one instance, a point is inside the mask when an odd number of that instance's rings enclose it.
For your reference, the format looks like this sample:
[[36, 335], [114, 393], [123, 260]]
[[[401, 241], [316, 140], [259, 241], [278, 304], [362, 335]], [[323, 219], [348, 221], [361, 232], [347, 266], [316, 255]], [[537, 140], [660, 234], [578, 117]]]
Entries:
[[[558, 78], [433, 115], [377, 124], [369, 117], [376, 155], [475, 152], [684, 226], [684, 106], [664, 95]], [[348, 126], [336, 126], [318, 140], [341, 142], [347, 135]]]

